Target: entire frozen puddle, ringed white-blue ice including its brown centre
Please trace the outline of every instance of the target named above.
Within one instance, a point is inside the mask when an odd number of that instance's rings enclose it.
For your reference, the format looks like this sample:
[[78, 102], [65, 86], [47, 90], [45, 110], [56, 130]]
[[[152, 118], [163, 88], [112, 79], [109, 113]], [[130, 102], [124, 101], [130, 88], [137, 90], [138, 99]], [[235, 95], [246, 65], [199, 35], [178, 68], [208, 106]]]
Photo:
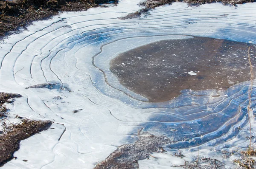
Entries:
[[[256, 3], [173, 3], [140, 19], [118, 19], [137, 3], [61, 13], [1, 41], [0, 91], [23, 96], [8, 105], [10, 113], [55, 122], [22, 141], [17, 159], [3, 168], [93, 168], [138, 141], [139, 129], [168, 138], [167, 156], [180, 149], [188, 161], [200, 149], [235, 165], [222, 153], [248, 146], [247, 51], [254, 64]], [[251, 99], [254, 111], [255, 86]], [[254, 118], [252, 124], [254, 135]], [[166, 155], [148, 162], [183, 163]]]

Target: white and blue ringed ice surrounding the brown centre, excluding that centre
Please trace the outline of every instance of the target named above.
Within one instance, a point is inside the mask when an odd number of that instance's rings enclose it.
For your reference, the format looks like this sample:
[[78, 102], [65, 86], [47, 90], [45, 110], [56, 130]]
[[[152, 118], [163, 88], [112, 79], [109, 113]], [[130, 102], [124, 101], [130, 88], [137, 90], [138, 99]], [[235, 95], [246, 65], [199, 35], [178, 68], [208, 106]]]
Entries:
[[[51, 129], [22, 141], [14, 155], [17, 159], [3, 168], [93, 168], [118, 146], [137, 141], [141, 128], [168, 136], [174, 142], [166, 150], [171, 154], [182, 149], [187, 160], [200, 149], [200, 155], [230, 166], [229, 160], [235, 156], [223, 159], [221, 153], [239, 152], [248, 146], [250, 82], [235, 80], [237, 84], [227, 90], [183, 90], [175, 99], [151, 103], [121, 85], [109, 64], [119, 54], [160, 40], [196, 36], [253, 46], [256, 3], [237, 7], [173, 3], [140, 19], [118, 18], [138, 10], [137, 3], [123, 0], [109, 8], [61, 13], [1, 41], [0, 91], [23, 96], [8, 105], [10, 113], [55, 122]], [[248, 59], [247, 51], [238, 57]], [[254, 87], [251, 99], [254, 109]], [[253, 127], [254, 135], [254, 123]], [[160, 164], [149, 159], [139, 165], [174, 164], [165, 158], [158, 158]]]

